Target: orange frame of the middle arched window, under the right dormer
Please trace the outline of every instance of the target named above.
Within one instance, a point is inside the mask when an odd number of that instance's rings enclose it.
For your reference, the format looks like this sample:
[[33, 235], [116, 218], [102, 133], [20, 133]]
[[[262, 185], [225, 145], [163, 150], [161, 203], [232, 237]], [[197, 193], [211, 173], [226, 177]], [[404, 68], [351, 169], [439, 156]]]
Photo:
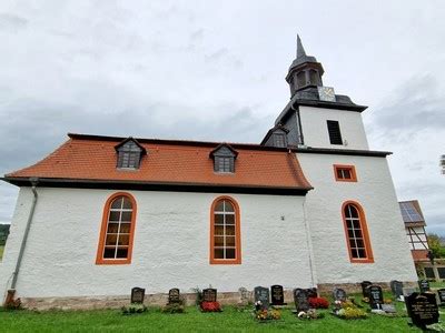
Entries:
[[[235, 259], [216, 259], [215, 258], [215, 208], [221, 200], [227, 200], [234, 205], [235, 210]], [[241, 264], [241, 226], [239, 205], [231, 196], [218, 196], [211, 203], [210, 209], [210, 264]]]

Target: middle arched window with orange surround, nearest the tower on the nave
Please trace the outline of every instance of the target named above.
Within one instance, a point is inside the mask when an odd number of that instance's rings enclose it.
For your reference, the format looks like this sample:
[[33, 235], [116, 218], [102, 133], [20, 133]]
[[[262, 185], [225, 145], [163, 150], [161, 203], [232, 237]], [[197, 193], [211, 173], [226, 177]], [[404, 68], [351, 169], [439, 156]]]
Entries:
[[229, 196], [217, 198], [210, 214], [210, 264], [240, 264], [238, 204]]

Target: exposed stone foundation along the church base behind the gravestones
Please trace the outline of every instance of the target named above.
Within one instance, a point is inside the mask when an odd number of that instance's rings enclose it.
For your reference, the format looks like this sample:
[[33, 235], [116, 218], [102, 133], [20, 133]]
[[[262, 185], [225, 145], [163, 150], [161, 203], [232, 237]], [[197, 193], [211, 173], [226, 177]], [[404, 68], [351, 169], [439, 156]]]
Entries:
[[[384, 291], [390, 291], [389, 283], [375, 283], [382, 286]], [[348, 294], [362, 293], [359, 283], [323, 283], [318, 285], [318, 293], [324, 296], [332, 296], [334, 287], [342, 287]], [[417, 282], [404, 282], [404, 287], [417, 287]], [[285, 302], [288, 305], [294, 304], [291, 290], [285, 290]], [[196, 293], [181, 293], [186, 305], [196, 304]], [[78, 297], [23, 297], [21, 299], [23, 307], [30, 310], [95, 310], [95, 309], [119, 309], [130, 304], [130, 295], [127, 296], [78, 296]], [[165, 306], [168, 301], [168, 294], [146, 294], [144, 304], [147, 306]], [[254, 303], [254, 292], [247, 292], [247, 301]], [[239, 292], [218, 292], [218, 302], [221, 305], [240, 304]], [[244, 302], [246, 303], [246, 302]]]

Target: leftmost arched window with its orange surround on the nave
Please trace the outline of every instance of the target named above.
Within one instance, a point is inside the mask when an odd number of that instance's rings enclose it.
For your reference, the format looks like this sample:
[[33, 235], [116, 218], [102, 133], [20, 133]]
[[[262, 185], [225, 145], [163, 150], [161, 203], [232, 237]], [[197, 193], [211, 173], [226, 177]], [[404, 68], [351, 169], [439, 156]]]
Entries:
[[129, 193], [111, 195], [103, 208], [96, 263], [131, 263], [136, 201]]

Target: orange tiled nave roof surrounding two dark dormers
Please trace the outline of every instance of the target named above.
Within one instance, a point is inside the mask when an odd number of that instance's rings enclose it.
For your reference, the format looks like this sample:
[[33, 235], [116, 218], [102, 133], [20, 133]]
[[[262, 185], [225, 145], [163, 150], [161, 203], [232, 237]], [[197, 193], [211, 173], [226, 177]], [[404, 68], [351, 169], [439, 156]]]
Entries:
[[212, 192], [219, 188], [225, 192], [237, 192], [236, 189], [250, 192], [256, 189], [277, 194], [305, 194], [312, 189], [296, 154], [286, 149], [231, 143], [238, 152], [235, 173], [220, 174], [214, 172], [214, 161], [209, 157], [220, 143], [137, 139], [148, 154], [142, 157], [138, 170], [119, 170], [115, 147], [125, 138], [68, 135], [69, 140], [47, 158], [7, 174], [4, 180], [17, 185], [28, 185], [30, 178], [39, 178], [40, 183], [59, 186], [138, 184], [144, 190], [170, 186], [184, 191], [184, 186], [191, 186], [192, 191]]

